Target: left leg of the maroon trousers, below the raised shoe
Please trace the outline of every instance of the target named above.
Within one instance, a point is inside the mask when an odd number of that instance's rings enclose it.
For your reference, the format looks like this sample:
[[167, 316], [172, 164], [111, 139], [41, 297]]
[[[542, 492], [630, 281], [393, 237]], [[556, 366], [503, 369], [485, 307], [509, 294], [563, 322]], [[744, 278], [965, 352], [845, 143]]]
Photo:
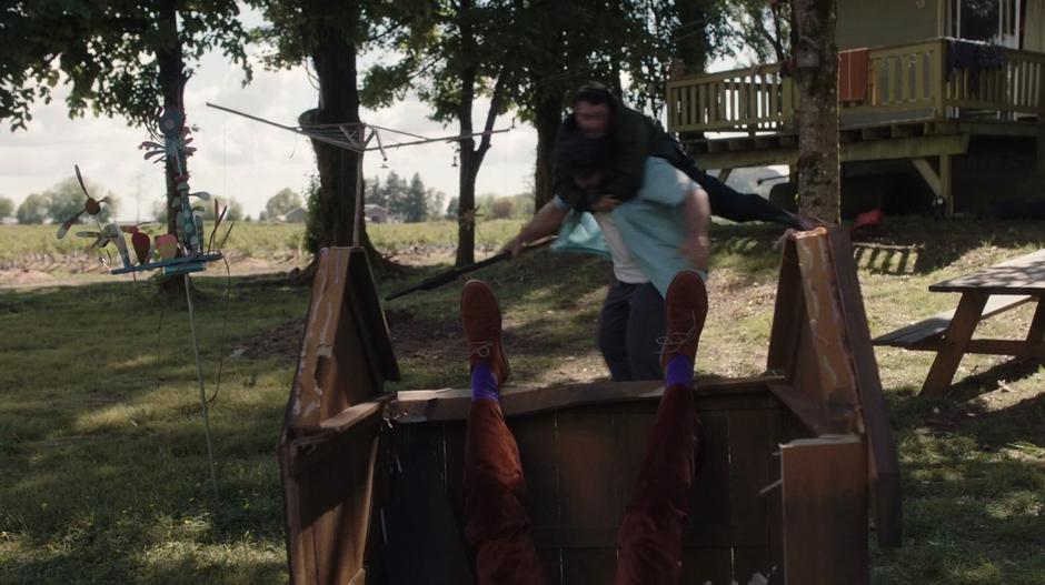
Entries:
[[472, 402], [465, 438], [465, 534], [478, 552], [479, 585], [544, 583], [525, 498], [519, 447], [500, 404]]

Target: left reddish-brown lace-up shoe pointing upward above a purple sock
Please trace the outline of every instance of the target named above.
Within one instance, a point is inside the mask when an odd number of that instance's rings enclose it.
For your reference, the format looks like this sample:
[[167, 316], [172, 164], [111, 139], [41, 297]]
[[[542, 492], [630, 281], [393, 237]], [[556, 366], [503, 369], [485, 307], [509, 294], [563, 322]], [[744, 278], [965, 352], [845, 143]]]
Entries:
[[500, 307], [494, 291], [482, 281], [468, 281], [461, 290], [461, 324], [468, 339], [468, 363], [487, 364], [497, 387], [508, 380], [508, 357], [500, 342]]

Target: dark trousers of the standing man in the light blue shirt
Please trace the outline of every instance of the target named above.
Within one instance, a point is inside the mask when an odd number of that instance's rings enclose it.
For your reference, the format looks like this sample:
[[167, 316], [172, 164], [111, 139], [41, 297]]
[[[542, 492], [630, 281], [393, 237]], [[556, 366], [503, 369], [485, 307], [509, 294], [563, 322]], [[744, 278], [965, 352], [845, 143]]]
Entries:
[[615, 382], [660, 380], [660, 343], [667, 323], [664, 297], [650, 283], [615, 281], [599, 315], [596, 339]]

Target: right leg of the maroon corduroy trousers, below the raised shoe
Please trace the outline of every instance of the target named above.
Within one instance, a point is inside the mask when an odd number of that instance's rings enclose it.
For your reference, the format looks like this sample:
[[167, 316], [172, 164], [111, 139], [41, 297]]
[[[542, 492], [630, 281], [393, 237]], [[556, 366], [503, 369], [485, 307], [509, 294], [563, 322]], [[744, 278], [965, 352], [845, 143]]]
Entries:
[[678, 583], [697, 424], [693, 390], [667, 389], [657, 409], [638, 483], [617, 533], [620, 551], [616, 585]]

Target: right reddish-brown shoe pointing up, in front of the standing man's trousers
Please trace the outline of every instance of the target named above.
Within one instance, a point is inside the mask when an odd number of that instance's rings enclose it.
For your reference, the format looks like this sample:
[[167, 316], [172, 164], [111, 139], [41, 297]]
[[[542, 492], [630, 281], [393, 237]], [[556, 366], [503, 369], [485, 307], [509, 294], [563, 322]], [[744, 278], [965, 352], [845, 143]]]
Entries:
[[660, 347], [660, 369], [667, 371], [668, 362], [676, 355], [697, 355], [704, 321], [707, 319], [707, 289], [704, 280], [691, 270], [679, 272], [668, 286], [664, 300], [667, 313], [667, 332]]

